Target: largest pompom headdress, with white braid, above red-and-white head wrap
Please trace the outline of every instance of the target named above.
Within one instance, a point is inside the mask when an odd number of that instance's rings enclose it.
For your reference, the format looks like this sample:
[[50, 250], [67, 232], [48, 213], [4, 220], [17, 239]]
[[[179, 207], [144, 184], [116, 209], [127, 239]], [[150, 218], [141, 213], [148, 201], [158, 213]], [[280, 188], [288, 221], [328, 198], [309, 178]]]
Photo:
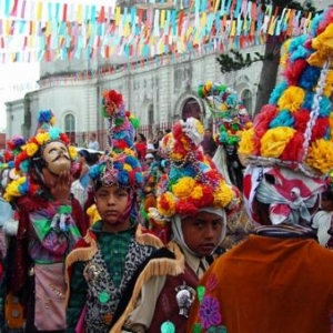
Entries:
[[333, 8], [283, 51], [283, 80], [242, 134], [239, 152], [252, 165], [322, 176], [333, 165]]

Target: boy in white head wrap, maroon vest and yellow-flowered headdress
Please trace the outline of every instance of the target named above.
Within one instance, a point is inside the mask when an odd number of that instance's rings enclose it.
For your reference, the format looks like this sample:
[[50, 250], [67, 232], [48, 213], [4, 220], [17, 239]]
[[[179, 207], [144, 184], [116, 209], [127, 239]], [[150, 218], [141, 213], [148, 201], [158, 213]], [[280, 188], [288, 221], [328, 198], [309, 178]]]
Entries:
[[[203, 125], [194, 118], [173, 127], [170, 173], [158, 185], [149, 215], [172, 239], [140, 268], [110, 332], [184, 332], [199, 278], [225, 235], [235, 193], [202, 152]], [[168, 222], [167, 222], [168, 221]]]

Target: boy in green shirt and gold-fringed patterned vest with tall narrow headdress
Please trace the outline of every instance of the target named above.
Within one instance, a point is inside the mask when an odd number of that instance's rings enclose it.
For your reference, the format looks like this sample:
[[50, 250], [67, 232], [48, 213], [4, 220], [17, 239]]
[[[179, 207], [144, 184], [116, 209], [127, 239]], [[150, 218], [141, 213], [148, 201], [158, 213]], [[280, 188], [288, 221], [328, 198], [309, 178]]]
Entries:
[[103, 93], [102, 104], [110, 123], [109, 154], [89, 171], [100, 220], [67, 258], [67, 332], [108, 332], [133, 272], [162, 246], [138, 223], [143, 179], [132, 149], [135, 119], [114, 90]]

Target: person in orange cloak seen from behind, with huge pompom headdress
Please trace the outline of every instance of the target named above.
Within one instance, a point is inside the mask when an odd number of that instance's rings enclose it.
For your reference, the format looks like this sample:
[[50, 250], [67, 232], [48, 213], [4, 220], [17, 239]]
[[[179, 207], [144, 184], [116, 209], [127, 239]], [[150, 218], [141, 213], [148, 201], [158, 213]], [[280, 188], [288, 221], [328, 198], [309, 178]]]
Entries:
[[242, 135], [258, 228], [201, 279], [186, 332], [332, 331], [333, 253], [310, 226], [333, 165], [332, 18], [331, 8], [284, 44], [284, 79]]

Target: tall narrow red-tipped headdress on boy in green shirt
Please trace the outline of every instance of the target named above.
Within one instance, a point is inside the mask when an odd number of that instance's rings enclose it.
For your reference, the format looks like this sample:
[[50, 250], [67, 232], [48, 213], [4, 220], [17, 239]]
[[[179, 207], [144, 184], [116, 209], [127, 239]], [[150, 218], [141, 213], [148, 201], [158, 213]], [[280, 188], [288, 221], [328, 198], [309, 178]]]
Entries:
[[102, 161], [89, 172], [95, 188], [117, 185], [140, 189], [142, 169], [134, 150], [138, 119], [127, 111], [122, 94], [115, 90], [103, 93], [102, 114], [109, 121], [108, 149]]

